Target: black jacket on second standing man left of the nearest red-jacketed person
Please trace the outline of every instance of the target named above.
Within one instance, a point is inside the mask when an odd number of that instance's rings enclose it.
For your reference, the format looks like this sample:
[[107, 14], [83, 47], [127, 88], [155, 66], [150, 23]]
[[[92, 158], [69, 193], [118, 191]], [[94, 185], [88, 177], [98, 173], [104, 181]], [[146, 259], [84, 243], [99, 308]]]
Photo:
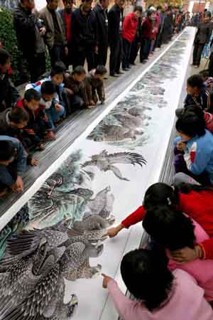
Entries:
[[94, 7], [94, 13], [97, 18], [97, 42], [98, 45], [108, 45], [108, 16], [107, 10], [102, 9], [102, 7], [97, 4]]

